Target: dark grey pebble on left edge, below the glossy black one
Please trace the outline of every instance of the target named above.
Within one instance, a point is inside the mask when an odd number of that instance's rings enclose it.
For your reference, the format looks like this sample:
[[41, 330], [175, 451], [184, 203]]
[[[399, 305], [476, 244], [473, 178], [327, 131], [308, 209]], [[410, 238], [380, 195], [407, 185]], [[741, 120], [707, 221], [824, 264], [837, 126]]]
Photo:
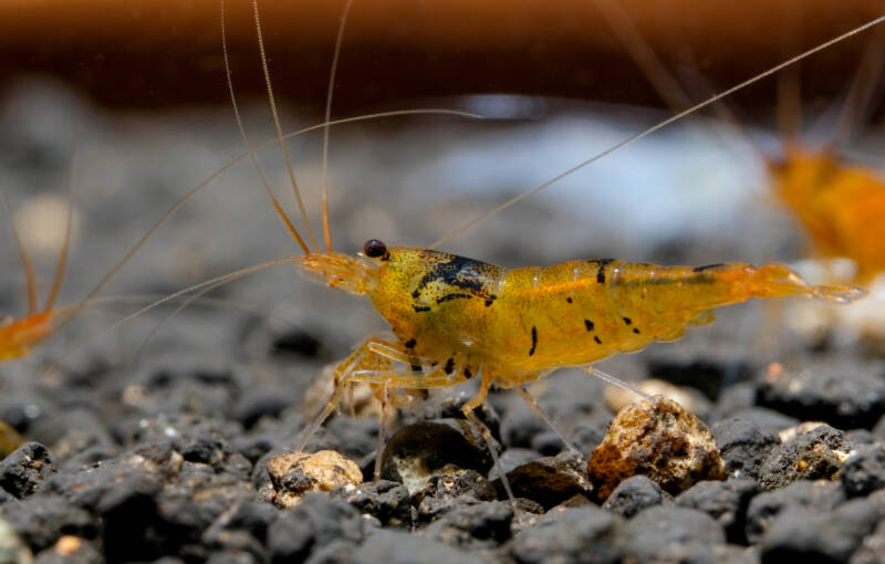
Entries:
[[28, 500], [6, 503], [0, 506], [0, 518], [34, 552], [51, 546], [65, 534], [95, 539], [100, 531], [97, 520], [60, 495], [37, 493]]

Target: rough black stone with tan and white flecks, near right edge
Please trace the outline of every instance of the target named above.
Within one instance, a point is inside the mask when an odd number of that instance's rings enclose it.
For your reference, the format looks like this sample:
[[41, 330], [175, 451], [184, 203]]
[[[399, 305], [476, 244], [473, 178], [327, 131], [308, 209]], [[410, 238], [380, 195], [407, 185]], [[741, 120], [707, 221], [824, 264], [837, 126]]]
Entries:
[[759, 472], [759, 484], [775, 490], [795, 480], [831, 480], [853, 445], [845, 434], [825, 425], [771, 450]]

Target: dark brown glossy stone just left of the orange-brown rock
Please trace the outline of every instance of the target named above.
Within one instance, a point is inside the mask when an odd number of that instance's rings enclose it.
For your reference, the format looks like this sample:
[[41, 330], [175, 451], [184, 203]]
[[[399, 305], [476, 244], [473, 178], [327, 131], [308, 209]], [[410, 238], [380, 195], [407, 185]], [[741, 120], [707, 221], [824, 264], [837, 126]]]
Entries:
[[550, 509], [577, 493], [590, 495], [593, 487], [584, 471], [585, 466], [580, 453], [566, 450], [555, 457], [521, 464], [507, 473], [507, 480], [513, 495]]

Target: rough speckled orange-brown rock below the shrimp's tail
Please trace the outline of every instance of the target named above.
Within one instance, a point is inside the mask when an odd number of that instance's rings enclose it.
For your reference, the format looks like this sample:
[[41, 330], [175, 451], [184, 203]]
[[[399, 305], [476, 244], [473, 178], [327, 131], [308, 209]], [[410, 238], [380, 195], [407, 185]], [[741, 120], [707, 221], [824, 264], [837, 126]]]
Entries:
[[722, 480], [725, 464], [707, 427], [678, 404], [653, 397], [621, 410], [587, 464], [596, 498], [644, 474], [676, 494], [700, 480]]

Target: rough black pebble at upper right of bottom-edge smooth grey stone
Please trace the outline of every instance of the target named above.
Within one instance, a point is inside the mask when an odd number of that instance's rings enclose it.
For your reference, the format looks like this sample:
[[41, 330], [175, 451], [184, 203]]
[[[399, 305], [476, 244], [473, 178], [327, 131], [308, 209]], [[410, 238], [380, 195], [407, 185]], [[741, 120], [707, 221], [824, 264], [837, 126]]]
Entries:
[[513, 509], [489, 501], [449, 511], [424, 530], [425, 536], [464, 549], [496, 546], [510, 540]]

